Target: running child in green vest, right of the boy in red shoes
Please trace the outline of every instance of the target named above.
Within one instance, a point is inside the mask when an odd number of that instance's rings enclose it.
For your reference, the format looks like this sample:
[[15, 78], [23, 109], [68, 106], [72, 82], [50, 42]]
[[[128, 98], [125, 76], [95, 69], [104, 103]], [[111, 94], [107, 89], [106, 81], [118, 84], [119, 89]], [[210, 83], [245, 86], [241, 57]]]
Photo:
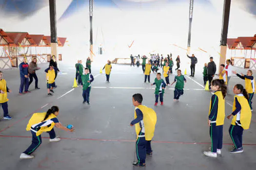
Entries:
[[184, 81], [187, 83], [187, 80], [183, 75], [181, 75], [181, 70], [177, 70], [177, 76], [174, 78], [174, 82], [171, 84], [173, 85], [177, 81], [174, 89], [174, 101], [178, 101], [179, 97], [183, 95], [183, 88], [184, 88]]

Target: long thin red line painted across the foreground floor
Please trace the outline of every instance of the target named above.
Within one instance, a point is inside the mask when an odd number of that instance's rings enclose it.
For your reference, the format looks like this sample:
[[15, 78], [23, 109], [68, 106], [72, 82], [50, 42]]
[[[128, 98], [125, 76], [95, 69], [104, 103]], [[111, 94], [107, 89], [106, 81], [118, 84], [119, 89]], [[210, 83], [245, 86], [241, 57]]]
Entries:
[[[19, 137], [19, 138], [31, 138], [31, 136], [7, 136], [0, 135], [0, 137]], [[49, 138], [49, 137], [42, 137]], [[87, 140], [87, 141], [106, 141], [106, 142], [136, 142], [136, 140], [124, 140], [124, 139], [93, 139], [93, 138], [70, 138], [70, 137], [60, 137], [66, 140]], [[178, 141], [152, 141], [153, 143], [174, 143], [174, 144], [211, 144], [211, 142], [178, 142]], [[233, 145], [233, 143], [223, 143], [223, 145]], [[244, 146], [256, 146], [256, 144], [243, 144]]]

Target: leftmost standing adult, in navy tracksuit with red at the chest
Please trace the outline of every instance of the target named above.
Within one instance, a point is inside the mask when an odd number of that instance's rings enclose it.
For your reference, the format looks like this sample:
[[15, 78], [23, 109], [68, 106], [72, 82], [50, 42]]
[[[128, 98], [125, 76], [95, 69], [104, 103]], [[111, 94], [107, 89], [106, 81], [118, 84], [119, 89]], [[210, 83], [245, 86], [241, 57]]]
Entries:
[[23, 62], [20, 63], [19, 68], [20, 68], [20, 94], [23, 93], [24, 86], [25, 86], [25, 93], [30, 93], [30, 91], [28, 91], [28, 86], [29, 86], [28, 63], [25, 57], [23, 58]]

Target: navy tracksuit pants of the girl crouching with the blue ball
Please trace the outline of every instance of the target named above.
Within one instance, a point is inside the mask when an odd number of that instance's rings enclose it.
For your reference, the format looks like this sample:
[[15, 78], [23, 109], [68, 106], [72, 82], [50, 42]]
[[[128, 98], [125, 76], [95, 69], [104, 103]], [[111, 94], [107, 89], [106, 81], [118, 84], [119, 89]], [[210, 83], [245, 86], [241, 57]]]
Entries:
[[[56, 137], [55, 132], [54, 132], [54, 128], [47, 132], [50, 135], [50, 139], [53, 139]], [[31, 145], [28, 147], [28, 149], [26, 151], [24, 151], [23, 153], [30, 155], [31, 153], [33, 153], [42, 143], [42, 138], [41, 135], [37, 136], [36, 133], [34, 131], [31, 130], [31, 134], [32, 134], [32, 143]]]

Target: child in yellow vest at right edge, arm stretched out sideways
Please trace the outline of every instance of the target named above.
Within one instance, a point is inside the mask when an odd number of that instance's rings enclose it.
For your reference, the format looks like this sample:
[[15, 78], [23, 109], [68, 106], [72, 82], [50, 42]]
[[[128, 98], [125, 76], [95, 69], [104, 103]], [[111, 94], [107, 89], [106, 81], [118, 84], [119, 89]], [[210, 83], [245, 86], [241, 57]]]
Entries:
[[[236, 71], [232, 71], [234, 74], [236, 74]], [[245, 80], [245, 89], [246, 91], [249, 93], [249, 98], [248, 98], [248, 102], [251, 108], [251, 111], [253, 111], [253, 97], [254, 94], [256, 93], [256, 83], [255, 83], [255, 79], [253, 76], [253, 71], [252, 70], [248, 70], [246, 75], [243, 75], [241, 73], [241, 75], [236, 74], [238, 77], [240, 77], [241, 79]]]

